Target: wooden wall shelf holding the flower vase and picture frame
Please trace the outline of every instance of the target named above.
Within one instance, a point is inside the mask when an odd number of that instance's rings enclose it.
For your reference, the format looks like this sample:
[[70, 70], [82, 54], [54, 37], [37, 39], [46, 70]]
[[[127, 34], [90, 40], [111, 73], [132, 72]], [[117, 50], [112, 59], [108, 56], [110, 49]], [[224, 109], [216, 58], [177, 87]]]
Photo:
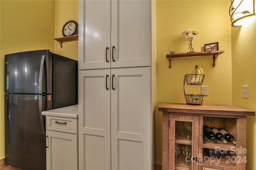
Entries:
[[224, 53], [224, 50], [222, 51], [202, 51], [202, 52], [188, 52], [188, 53], [178, 53], [178, 54], [166, 54], [166, 58], [169, 59], [169, 68], [171, 68], [171, 58], [177, 58], [177, 57], [194, 57], [194, 56], [208, 56], [212, 55], [213, 64], [212, 66], [215, 66], [216, 58], [218, 55]]

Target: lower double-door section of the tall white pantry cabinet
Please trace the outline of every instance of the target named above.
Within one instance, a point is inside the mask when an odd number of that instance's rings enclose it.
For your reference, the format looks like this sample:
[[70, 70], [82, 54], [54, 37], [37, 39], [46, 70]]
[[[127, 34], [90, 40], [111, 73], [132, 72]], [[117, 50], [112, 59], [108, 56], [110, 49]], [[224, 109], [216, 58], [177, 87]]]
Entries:
[[79, 169], [150, 169], [150, 67], [79, 71]]

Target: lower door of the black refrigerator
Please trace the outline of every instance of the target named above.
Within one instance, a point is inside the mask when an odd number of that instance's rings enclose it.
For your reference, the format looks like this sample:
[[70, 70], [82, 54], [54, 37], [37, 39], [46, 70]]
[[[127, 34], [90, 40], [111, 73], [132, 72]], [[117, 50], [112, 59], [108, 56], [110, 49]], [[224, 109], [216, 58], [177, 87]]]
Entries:
[[[47, 96], [5, 94], [6, 162], [22, 170], [46, 170]], [[41, 107], [42, 106], [42, 107]]]

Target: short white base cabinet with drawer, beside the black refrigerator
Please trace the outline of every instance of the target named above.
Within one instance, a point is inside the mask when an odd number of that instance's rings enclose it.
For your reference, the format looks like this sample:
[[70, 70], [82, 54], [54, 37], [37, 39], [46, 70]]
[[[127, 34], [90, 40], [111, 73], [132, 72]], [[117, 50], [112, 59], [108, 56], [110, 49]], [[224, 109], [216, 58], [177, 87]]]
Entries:
[[46, 116], [47, 170], [78, 170], [77, 143], [76, 118]]

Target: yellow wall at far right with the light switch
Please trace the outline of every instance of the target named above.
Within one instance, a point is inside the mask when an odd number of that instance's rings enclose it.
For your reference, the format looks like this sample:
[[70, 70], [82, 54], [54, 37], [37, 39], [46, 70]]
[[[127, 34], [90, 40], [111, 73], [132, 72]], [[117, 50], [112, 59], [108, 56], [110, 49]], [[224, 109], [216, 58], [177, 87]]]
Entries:
[[[232, 104], [256, 110], [256, 16], [240, 28], [232, 28]], [[243, 86], [249, 87], [249, 98], [243, 98]], [[256, 169], [256, 118], [247, 118], [248, 170]]]

